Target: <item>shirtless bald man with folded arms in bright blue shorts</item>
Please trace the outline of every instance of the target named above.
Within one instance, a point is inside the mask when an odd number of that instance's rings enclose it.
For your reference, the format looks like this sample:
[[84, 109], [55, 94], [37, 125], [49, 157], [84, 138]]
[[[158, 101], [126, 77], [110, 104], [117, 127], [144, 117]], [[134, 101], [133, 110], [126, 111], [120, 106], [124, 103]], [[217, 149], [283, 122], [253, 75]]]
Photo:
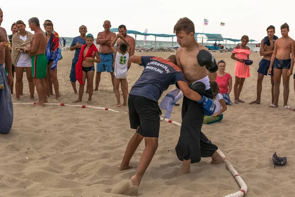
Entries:
[[113, 89], [114, 89], [114, 53], [110, 47], [113, 37], [116, 37], [116, 33], [110, 32], [111, 22], [105, 21], [103, 28], [105, 31], [97, 34], [96, 44], [99, 44], [99, 56], [101, 59], [100, 63], [96, 64], [96, 77], [95, 77], [95, 88], [94, 91], [98, 90], [101, 72], [110, 72], [112, 77]]

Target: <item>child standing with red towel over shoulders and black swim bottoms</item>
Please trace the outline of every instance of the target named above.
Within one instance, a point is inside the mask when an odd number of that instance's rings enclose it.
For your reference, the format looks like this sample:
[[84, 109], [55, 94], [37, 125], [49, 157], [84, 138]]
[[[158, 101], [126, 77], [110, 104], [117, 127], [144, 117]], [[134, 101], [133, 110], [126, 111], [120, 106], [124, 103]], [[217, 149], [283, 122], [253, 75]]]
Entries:
[[[87, 78], [89, 86], [88, 104], [91, 103], [93, 93], [93, 78], [94, 78], [94, 62], [100, 63], [100, 56], [98, 55], [97, 48], [93, 44], [94, 37], [92, 34], [86, 35], [86, 44], [81, 48], [79, 60], [76, 64], [76, 79], [80, 83], [79, 98], [73, 102], [81, 102], [84, 92], [85, 81]], [[96, 59], [94, 59], [96, 57]]]

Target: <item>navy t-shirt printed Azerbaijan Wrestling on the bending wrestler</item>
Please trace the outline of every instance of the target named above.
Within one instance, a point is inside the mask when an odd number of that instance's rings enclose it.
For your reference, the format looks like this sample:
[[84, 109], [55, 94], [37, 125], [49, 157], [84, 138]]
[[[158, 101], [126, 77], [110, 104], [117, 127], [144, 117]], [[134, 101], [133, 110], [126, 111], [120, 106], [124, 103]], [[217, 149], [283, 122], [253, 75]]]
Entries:
[[142, 56], [145, 69], [132, 86], [130, 95], [146, 97], [158, 102], [162, 93], [177, 81], [186, 82], [183, 72], [169, 60], [159, 57]]

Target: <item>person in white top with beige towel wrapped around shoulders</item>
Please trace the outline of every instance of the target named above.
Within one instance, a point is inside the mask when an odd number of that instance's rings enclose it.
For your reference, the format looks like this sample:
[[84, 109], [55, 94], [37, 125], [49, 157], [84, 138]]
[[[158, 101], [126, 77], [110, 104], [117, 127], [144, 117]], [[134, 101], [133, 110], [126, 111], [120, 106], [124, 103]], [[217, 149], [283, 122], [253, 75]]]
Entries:
[[12, 61], [15, 66], [15, 94], [16, 99], [20, 99], [21, 84], [24, 75], [24, 69], [26, 69], [27, 79], [29, 82], [30, 99], [34, 100], [34, 83], [32, 78], [32, 63], [28, 53], [24, 52], [24, 49], [29, 48], [29, 43], [32, 38], [32, 33], [26, 31], [26, 25], [23, 21], [16, 22], [16, 28], [19, 31], [12, 36]]

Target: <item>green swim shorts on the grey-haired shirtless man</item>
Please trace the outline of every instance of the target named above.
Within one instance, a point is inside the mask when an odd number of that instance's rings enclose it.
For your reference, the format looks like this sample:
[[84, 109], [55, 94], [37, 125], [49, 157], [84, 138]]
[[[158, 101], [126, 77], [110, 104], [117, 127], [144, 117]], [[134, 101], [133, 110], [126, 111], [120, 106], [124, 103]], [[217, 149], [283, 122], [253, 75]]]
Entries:
[[45, 54], [33, 55], [32, 59], [32, 76], [33, 78], [45, 78], [47, 71], [47, 58]]

